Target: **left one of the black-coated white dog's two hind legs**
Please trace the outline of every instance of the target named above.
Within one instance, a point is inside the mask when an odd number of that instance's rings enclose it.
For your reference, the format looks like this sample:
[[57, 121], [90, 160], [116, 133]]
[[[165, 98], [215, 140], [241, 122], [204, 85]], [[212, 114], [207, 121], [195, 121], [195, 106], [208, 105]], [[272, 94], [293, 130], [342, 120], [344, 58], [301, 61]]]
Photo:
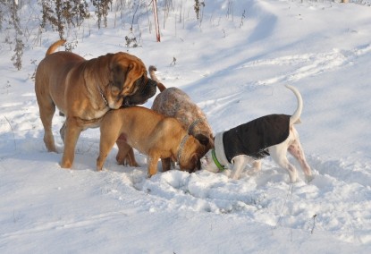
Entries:
[[298, 178], [298, 172], [294, 165], [291, 165], [287, 159], [287, 140], [281, 144], [270, 147], [269, 153], [277, 165], [286, 169], [290, 176], [290, 182], [296, 182]]

